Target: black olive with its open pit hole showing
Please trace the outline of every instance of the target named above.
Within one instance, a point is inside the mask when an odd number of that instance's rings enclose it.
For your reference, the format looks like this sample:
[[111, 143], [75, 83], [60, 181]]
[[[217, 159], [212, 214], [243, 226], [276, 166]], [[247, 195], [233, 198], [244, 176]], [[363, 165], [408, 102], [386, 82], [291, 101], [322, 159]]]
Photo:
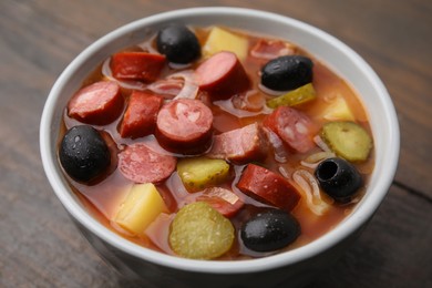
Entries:
[[363, 179], [356, 167], [339, 157], [322, 161], [315, 171], [319, 185], [335, 200], [350, 202], [363, 185]]

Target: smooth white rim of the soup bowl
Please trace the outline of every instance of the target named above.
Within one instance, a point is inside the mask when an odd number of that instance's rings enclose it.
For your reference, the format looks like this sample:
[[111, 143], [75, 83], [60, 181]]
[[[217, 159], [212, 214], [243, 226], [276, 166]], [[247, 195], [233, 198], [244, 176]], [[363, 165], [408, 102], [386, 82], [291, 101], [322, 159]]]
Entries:
[[[357, 209], [349, 216], [349, 222], [342, 220], [337, 227], [326, 233], [323, 236], [318, 239], [301, 246], [299, 248], [277, 254], [274, 256], [268, 256], [258, 259], [248, 259], [248, 260], [194, 260], [185, 259], [175, 256], [165, 255], [145, 247], [141, 247], [132, 241], [126, 240], [125, 238], [119, 236], [114, 232], [107, 229], [103, 224], [94, 219], [84, 207], [80, 206], [76, 203], [76, 199], [72, 197], [71, 192], [64, 187], [64, 181], [62, 181], [62, 175], [60, 169], [55, 168], [56, 158], [55, 153], [52, 153], [53, 145], [51, 143], [51, 133], [55, 131], [51, 126], [51, 121], [55, 111], [55, 101], [59, 91], [68, 82], [69, 76], [78, 66], [94, 51], [97, 51], [104, 47], [111, 39], [116, 38], [121, 34], [127, 33], [137, 29], [138, 27], [145, 27], [153, 22], [158, 22], [163, 19], [177, 19], [177, 18], [187, 18], [189, 16], [217, 16], [217, 14], [228, 14], [228, 16], [241, 16], [241, 17], [251, 17], [258, 19], [271, 19], [271, 21], [278, 21], [285, 24], [294, 25], [298, 29], [307, 30], [309, 33], [315, 34], [323, 41], [331, 42], [331, 44], [347, 54], [356, 64], [364, 71], [368, 75], [370, 83], [373, 85], [373, 89], [381, 95], [381, 101], [384, 102], [387, 107], [387, 114], [384, 114], [384, 121], [389, 124], [390, 131], [390, 143], [392, 146], [385, 151], [385, 160], [388, 161], [388, 171], [387, 175], [382, 177], [377, 183], [374, 187], [373, 195], [368, 197], [366, 203], [358, 205]], [[61, 73], [61, 75], [55, 81], [53, 88], [50, 91], [50, 94], [47, 99], [41, 123], [40, 123], [40, 153], [42, 158], [43, 168], [45, 171], [49, 183], [51, 184], [54, 193], [58, 198], [61, 200], [64, 208], [72, 215], [72, 217], [81, 223], [84, 227], [91, 230], [103, 241], [114, 246], [115, 248], [130, 254], [132, 256], [138, 257], [143, 260], [154, 263], [161, 266], [188, 270], [196, 272], [208, 272], [208, 274], [247, 274], [255, 271], [269, 270], [278, 268], [281, 266], [292, 265], [311, 258], [323, 250], [329, 249], [337, 243], [347, 238], [349, 235], [359, 229], [377, 210], [382, 199], [388, 193], [388, 189], [392, 183], [399, 160], [399, 145], [400, 145], [400, 134], [399, 134], [399, 124], [394, 106], [390, 99], [389, 93], [387, 92], [383, 83], [376, 74], [376, 72], [370, 68], [370, 65], [351, 48], [336, 39], [335, 37], [323, 32], [322, 30], [301, 22], [299, 20], [276, 14], [272, 12], [259, 11], [254, 9], [246, 8], [232, 8], [232, 7], [203, 7], [203, 8], [188, 8], [173, 10], [168, 12], [162, 12], [145, 17], [143, 19], [135, 20], [128, 24], [120, 27], [114, 31], [105, 34], [85, 50], [83, 50]]]

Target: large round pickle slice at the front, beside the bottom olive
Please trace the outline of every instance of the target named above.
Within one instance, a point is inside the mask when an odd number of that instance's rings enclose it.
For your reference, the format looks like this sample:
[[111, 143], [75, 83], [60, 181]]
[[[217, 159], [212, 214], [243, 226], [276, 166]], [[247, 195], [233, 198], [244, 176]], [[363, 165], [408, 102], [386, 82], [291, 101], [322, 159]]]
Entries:
[[219, 257], [229, 250], [233, 241], [233, 224], [205, 202], [184, 206], [171, 224], [171, 248], [185, 258]]

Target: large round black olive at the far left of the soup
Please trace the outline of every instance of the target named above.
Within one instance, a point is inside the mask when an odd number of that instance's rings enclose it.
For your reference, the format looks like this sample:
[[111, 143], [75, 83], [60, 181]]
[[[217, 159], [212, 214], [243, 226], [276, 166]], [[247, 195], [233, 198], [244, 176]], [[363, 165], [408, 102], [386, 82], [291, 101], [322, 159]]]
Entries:
[[105, 141], [89, 125], [74, 126], [64, 134], [59, 156], [68, 175], [79, 182], [95, 178], [111, 164]]

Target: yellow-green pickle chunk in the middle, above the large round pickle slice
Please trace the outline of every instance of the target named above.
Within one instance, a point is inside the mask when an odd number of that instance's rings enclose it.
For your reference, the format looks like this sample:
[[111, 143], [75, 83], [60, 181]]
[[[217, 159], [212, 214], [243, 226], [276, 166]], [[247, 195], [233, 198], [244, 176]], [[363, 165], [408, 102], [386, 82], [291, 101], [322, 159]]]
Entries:
[[225, 181], [229, 164], [206, 157], [184, 158], [177, 163], [177, 173], [188, 192], [197, 192]]

